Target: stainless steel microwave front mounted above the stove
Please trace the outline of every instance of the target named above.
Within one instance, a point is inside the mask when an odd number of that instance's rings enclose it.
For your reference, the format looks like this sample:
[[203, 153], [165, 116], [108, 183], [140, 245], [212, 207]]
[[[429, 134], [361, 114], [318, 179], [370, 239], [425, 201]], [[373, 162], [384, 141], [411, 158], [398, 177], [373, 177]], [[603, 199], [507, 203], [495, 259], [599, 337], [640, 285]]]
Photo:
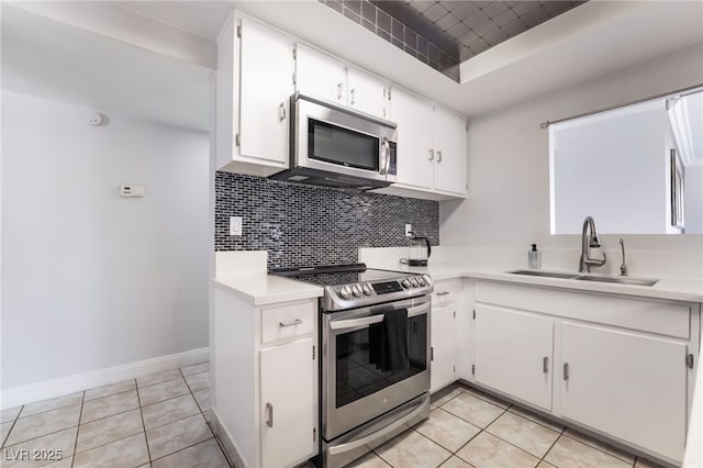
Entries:
[[395, 181], [395, 124], [303, 94], [292, 105], [293, 166]]

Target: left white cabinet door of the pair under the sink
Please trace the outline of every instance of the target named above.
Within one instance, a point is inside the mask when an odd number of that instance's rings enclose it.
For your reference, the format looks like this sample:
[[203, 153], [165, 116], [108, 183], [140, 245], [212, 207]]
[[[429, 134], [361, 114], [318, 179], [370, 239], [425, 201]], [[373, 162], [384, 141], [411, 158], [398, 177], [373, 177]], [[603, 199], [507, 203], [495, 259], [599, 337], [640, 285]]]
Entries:
[[476, 381], [550, 411], [554, 320], [477, 304], [475, 322]]

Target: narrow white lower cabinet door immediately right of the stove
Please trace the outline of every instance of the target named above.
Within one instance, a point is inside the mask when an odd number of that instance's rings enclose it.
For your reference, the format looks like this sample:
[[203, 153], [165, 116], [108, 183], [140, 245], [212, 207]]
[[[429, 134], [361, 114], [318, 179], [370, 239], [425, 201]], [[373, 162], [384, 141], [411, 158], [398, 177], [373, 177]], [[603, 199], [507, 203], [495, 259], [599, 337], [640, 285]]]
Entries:
[[456, 380], [457, 341], [456, 303], [432, 308], [432, 366], [429, 391], [435, 392]]

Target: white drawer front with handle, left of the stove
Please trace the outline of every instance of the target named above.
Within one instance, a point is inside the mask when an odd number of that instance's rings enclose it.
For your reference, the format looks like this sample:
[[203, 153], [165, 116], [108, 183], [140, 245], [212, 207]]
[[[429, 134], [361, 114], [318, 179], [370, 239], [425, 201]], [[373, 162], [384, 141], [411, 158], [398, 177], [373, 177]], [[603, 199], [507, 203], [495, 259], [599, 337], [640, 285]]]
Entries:
[[261, 309], [261, 343], [312, 334], [316, 301], [289, 302]]

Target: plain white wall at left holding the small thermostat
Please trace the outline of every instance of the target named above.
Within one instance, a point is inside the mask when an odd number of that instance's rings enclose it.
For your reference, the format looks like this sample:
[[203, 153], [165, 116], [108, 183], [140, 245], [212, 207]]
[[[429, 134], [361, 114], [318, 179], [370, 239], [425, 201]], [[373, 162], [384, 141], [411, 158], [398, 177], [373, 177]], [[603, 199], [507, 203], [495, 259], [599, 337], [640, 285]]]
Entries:
[[2, 389], [208, 346], [208, 134], [87, 113], [2, 93]]

